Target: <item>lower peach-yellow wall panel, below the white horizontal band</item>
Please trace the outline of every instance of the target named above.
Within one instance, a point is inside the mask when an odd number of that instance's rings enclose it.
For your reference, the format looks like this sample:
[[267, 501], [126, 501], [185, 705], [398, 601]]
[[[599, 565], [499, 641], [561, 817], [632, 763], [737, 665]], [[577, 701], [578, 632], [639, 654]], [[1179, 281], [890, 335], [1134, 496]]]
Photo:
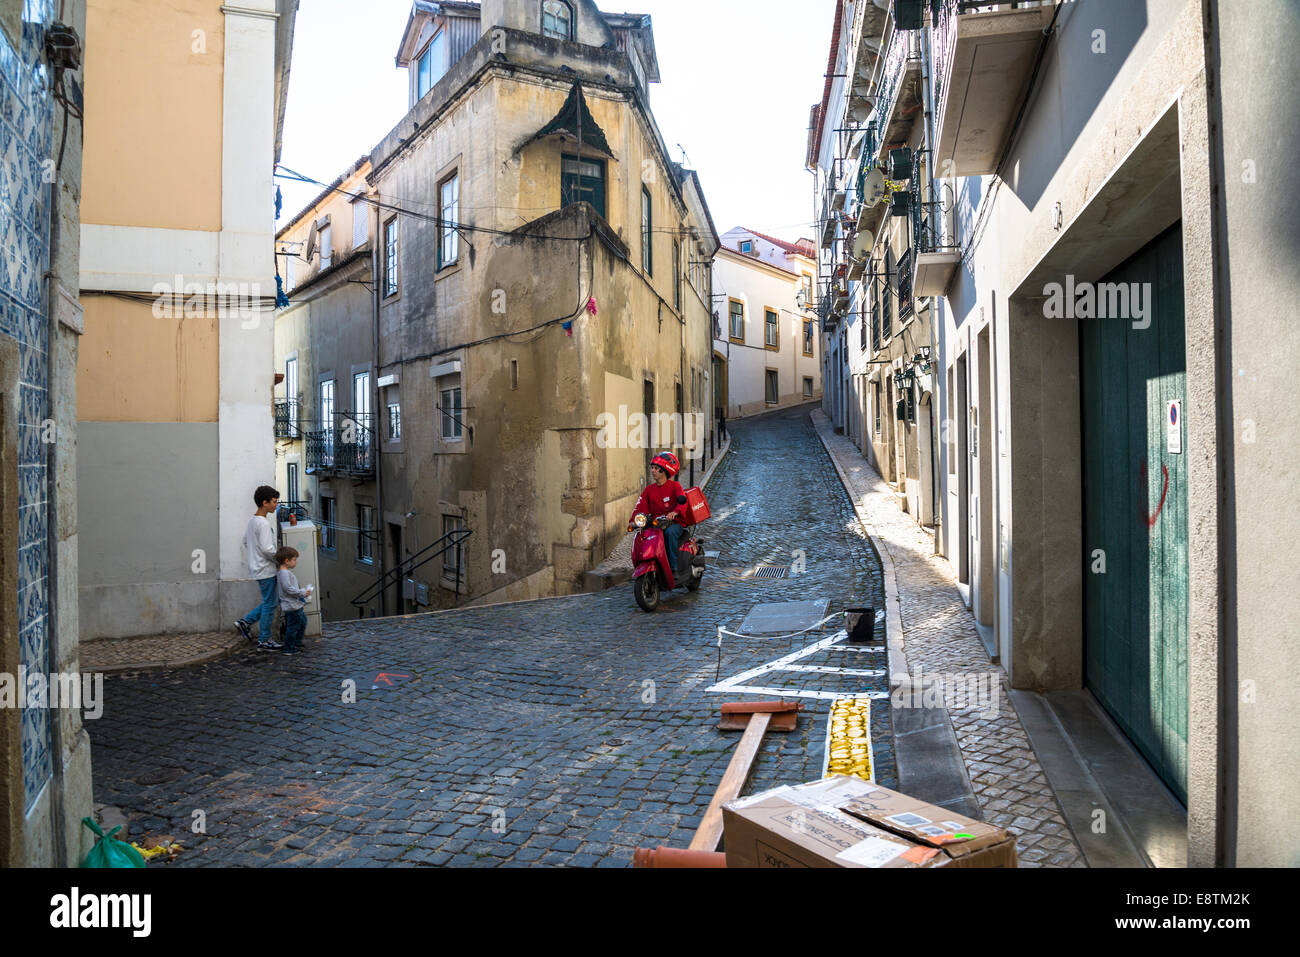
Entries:
[[157, 319], [150, 303], [83, 295], [81, 421], [217, 421], [217, 319]]

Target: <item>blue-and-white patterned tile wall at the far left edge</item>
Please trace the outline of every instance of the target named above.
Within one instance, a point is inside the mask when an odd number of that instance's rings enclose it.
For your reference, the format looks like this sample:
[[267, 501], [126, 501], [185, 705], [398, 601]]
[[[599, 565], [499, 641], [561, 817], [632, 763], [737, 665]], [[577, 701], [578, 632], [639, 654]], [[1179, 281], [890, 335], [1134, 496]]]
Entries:
[[[26, 0], [22, 43], [0, 31], [0, 334], [18, 342], [18, 627], [22, 664], [47, 671], [46, 389], [49, 338], [43, 274], [49, 263], [53, 99], [43, 64], [53, 0]], [[22, 781], [30, 809], [51, 776], [49, 711], [22, 711]]]

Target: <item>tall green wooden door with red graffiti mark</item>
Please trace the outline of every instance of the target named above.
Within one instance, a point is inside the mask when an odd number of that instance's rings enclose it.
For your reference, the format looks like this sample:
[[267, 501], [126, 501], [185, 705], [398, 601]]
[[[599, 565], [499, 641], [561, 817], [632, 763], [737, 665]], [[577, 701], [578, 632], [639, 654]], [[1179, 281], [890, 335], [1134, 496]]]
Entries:
[[[1182, 229], [1101, 283], [1140, 291], [1150, 324], [1080, 319], [1084, 676], [1187, 800], [1187, 456]], [[1149, 285], [1148, 285], [1149, 283]], [[1110, 299], [1106, 294], [1106, 299]], [[1170, 403], [1179, 403], [1173, 410]], [[1171, 412], [1176, 423], [1170, 423]]]

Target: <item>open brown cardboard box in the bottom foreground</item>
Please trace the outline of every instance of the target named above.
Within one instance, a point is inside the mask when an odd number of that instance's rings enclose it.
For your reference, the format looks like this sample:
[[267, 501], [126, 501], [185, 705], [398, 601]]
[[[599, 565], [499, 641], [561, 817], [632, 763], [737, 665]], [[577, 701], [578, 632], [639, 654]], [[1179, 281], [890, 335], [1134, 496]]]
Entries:
[[723, 805], [728, 867], [1015, 867], [1001, 827], [837, 775]]

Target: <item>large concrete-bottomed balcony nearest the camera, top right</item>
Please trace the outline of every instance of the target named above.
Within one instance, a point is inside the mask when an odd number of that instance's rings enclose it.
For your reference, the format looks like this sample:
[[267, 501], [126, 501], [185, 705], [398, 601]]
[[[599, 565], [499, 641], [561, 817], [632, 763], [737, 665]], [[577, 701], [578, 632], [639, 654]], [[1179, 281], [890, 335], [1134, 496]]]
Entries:
[[997, 170], [1052, 13], [1050, 3], [941, 0], [933, 30], [937, 170]]

